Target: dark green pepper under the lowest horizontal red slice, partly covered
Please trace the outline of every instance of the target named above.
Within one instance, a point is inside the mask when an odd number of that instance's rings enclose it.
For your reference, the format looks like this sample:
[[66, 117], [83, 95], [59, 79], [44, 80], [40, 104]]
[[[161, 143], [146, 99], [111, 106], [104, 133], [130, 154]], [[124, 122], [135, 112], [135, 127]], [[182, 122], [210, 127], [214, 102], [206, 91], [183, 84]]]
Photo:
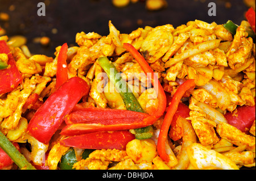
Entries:
[[[94, 150], [85, 149], [82, 153], [82, 159], [86, 159], [89, 157], [89, 154]], [[74, 163], [77, 162], [76, 153], [73, 148], [69, 149], [67, 153], [65, 153], [60, 160], [59, 167], [61, 170], [75, 170], [73, 169]]]

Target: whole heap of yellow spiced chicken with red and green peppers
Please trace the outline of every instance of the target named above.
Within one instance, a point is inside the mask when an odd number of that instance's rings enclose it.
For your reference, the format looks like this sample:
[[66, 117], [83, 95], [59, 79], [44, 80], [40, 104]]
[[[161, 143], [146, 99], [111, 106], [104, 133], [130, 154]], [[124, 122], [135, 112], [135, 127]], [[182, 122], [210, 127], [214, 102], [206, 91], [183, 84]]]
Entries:
[[130, 34], [109, 21], [55, 57], [1, 36], [0, 169], [255, 167], [254, 41], [255, 14]]

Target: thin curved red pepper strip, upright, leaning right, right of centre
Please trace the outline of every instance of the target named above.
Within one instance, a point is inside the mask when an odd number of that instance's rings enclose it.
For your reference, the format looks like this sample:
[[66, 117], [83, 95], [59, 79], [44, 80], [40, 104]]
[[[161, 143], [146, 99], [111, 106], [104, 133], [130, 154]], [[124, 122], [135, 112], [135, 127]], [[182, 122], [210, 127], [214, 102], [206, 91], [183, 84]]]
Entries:
[[163, 124], [161, 126], [159, 137], [158, 137], [157, 149], [158, 149], [159, 156], [166, 162], [168, 162], [170, 158], [166, 153], [165, 142], [166, 142], [167, 134], [168, 134], [172, 119], [177, 111], [177, 107], [180, 103], [181, 98], [185, 94], [185, 92], [195, 86], [196, 86], [195, 81], [193, 79], [189, 79], [185, 81], [182, 85], [180, 85], [171, 100], [171, 104], [167, 110], [166, 116], [164, 116]]

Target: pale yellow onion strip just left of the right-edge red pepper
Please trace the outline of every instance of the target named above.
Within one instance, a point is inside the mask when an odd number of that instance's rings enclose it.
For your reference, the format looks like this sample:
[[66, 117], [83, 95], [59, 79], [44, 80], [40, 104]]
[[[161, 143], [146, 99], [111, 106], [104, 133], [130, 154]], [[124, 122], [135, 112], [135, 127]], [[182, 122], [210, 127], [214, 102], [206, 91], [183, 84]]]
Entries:
[[197, 102], [196, 106], [200, 107], [210, 118], [216, 123], [219, 124], [220, 122], [227, 123], [226, 118], [222, 113], [217, 111], [216, 109], [208, 106], [205, 103]]

